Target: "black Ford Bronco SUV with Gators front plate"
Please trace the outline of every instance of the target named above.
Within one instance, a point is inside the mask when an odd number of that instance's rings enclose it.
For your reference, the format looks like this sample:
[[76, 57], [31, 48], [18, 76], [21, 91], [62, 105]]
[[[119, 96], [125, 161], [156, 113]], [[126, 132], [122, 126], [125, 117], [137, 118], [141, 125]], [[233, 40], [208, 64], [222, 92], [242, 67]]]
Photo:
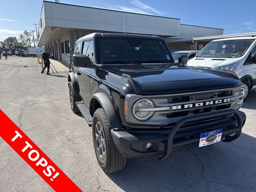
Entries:
[[244, 84], [236, 74], [174, 62], [158, 36], [94, 33], [76, 41], [68, 75], [70, 104], [89, 126], [104, 172], [127, 158], [237, 139]]

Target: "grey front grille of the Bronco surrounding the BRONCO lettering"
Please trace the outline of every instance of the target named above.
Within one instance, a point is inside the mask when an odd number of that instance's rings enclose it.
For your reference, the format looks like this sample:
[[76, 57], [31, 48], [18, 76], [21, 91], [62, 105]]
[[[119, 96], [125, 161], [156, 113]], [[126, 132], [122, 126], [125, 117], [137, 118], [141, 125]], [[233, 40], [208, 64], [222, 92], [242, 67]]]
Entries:
[[148, 98], [154, 102], [156, 108], [162, 107], [168, 110], [156, 111], [152, 118], [144, 122], [136, 120], [132, 112], [128, 112], [126, 120], [129, 124], [166, 126], [167, 124], [178, 122], [178, 120], [184, 117], [226, 109], [237, 110], [240, 106], [236, 104], [236, 100], [233, 98], [241, 87], [152, 96], [128, 94], [126, 95], [126, 100], [130, 103], [128, 108], [132, 108], [132, 104], [138, 99]]

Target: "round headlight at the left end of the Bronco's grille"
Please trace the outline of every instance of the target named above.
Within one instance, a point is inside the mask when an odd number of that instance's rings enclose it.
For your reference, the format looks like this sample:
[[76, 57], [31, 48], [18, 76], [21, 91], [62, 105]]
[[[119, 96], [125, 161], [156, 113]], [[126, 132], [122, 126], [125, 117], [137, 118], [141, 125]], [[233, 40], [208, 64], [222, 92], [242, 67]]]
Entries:
[[140, 109], [146, 109], [146, 108], [152, 108], [154, 107], [154, 103], [149, 100], [149, 99], [140, 99], [138, 100], [133, 108], [132, 108], [132, 113], [134, 117], [140, 121], [145, 121], [151, 118], [154, 114], [153, 111], [140, 111]]

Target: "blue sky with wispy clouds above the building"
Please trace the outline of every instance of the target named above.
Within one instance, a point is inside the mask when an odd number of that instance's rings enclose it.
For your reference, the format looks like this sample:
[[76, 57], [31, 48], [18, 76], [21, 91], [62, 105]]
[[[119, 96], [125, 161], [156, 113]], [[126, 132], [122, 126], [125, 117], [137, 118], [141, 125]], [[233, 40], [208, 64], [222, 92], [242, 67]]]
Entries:
[[[49, 0], [55, 2], [55, 0]], [[179, 18], [181, 24], [224, 29], [224, 34], [256, 32], [256, 0], [59, 0], [61, 3], [100, 7]], [[0, 4], [0, 41], [35, 30], [42, 0], [8, 0]], [[67, 13], [68, 14], [68, 13]]]

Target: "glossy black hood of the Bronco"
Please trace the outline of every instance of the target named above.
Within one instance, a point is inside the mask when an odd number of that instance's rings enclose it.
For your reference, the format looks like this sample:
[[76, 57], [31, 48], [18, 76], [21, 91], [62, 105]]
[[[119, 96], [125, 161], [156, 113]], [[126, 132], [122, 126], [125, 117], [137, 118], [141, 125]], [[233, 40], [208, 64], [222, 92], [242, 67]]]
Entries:
[[117, 66], [109, 71], [130, 75], [140, 94], [194, 92], [230, 88], [241, 84], [233, 74], [187, 66]]

